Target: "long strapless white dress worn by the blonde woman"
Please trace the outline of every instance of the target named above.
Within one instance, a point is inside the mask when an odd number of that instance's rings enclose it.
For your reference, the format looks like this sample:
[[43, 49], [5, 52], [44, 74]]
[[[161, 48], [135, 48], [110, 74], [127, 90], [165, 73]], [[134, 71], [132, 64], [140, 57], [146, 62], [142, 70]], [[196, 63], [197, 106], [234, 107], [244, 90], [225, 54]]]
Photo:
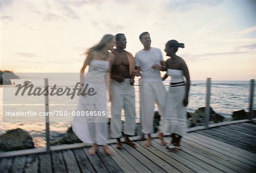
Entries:
[[[105, 73], [109, 69], [109, 61], [92, 60], [90, 61], [89, 71], [84, 78], [84, 83], [88, 83], [89, 87], [94, 88], [96, 95], [79, 96], [79, 103], [73, 118], [73, 132], [80, 138], [82, 142], [98, 145], [106, 145], [108, 124], [107, 116], [81, 116], [82, 112], [97, 111], [106, 113], [106, 81]], [[104, 123], [98, 123], [104, 122]]]

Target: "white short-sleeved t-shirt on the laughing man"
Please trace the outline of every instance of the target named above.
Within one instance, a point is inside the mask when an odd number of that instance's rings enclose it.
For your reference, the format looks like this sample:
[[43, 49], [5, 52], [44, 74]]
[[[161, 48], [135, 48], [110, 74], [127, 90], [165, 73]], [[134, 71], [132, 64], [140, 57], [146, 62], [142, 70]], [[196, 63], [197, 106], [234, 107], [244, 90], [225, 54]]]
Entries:
[[142, 49], [135, 54], [135, 66], [141, 68], [142, 81], [162, 82], [159, 69], [152, 69], [152, 65], [160, 65], [160, 61], [163, 61], [163, 54], [158, 48]]

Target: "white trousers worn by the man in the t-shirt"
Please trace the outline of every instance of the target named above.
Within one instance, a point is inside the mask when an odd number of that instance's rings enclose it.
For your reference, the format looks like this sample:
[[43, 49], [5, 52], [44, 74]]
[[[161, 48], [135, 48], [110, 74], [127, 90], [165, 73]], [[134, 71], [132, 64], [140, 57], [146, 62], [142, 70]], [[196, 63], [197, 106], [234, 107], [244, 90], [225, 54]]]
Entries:
[[[155, 102], [158, 104], [159, 114], [162, 116], [164, 114], [166, 88], [162, 82], [142, 81], [139, 92], [141, 99], [142, 133], [150, 134], [154, 120]], [[162, 130], [162, 120], [163, 117], [160, 119], [159, 131]]]

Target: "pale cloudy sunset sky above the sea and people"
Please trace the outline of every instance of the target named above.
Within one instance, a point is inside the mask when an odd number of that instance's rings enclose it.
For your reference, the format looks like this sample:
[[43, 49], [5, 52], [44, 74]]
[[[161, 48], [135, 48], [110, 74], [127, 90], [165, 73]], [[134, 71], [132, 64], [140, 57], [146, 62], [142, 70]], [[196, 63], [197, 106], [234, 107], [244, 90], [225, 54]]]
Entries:
[[[126, 50], [175, 39], [191, 80], [256, 78], [256, 0], [1, 0], [0, 69], [75, 73], [82, 53], [107, 33], [125, 33]], [[163, 75], [163, 74], [162, 74]]]

